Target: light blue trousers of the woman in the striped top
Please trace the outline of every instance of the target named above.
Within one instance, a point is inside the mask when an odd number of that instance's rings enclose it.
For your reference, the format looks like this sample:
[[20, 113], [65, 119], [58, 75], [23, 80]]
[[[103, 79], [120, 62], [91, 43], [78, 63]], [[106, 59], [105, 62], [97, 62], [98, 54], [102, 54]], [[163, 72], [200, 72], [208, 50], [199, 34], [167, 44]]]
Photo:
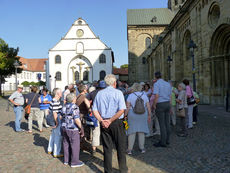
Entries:
[[48, 152], [53, 152], [54, 156], [60, 155], [61, 147], [62, 147], [62, 135], [61, 135], [61, 125], [57, 128], [52, 129], [52, 133], [50, 135], [49, 145], [48, 145]]

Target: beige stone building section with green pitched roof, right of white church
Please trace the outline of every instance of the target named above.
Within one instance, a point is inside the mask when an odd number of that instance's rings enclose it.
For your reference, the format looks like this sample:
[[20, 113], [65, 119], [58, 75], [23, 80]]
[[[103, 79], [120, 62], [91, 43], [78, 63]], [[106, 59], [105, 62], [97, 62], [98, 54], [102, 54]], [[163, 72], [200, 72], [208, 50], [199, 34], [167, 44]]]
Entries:
[[147, 57], [172, 18], [167, 8], [127, 11], [130, 83], [149, 80]]

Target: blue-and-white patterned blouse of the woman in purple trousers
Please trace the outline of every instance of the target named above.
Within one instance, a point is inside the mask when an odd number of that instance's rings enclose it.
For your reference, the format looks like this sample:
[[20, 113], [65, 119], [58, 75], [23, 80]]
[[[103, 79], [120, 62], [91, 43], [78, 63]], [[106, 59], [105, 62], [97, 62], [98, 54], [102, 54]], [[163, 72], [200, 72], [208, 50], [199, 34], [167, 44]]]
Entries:
[[75, 122], [73, 118], [73, 108], [72, 108], [72, 103], [69, 108], [66, 107], [65, 112], [62, 112], [62, 123], [61, 126], [66, 128], [66, 129], [74, 129]]

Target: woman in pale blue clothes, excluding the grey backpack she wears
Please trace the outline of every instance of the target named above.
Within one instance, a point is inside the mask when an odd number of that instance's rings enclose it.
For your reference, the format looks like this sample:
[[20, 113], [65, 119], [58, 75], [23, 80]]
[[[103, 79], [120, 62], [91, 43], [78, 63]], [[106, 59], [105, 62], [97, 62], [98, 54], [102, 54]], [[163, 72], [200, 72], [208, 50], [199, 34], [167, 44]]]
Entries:
[[[138, 134], [139, 148], [141, 153], [145, 153], [145, 134], [149, 133], [148, 121], [151, 121], [151, 109], [149, 99], [144, 92], [141, 92], [142, 86], [138, 83], [134, 83], [132, 86], [133, 93], [130, 94], [126, 101], [127, 109], [125, 116], [128, 118], [128, 154], [132, 154], [133, 145], [135, 142], [136, 133]], [[144, 101], [145, 112], [143, 114], [136, 114], [133, 108], [138, 96]]]

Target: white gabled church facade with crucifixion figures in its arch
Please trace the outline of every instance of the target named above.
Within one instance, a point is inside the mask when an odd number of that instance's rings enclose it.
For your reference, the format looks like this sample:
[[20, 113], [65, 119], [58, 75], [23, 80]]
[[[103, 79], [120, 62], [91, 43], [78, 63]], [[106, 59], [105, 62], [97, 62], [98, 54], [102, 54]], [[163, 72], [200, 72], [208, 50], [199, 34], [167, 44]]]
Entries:
[[112, 73], [114, 55], [81, 18], [49, 50], [49, 88], [61, 88], [76, 81], [93, 82]]

